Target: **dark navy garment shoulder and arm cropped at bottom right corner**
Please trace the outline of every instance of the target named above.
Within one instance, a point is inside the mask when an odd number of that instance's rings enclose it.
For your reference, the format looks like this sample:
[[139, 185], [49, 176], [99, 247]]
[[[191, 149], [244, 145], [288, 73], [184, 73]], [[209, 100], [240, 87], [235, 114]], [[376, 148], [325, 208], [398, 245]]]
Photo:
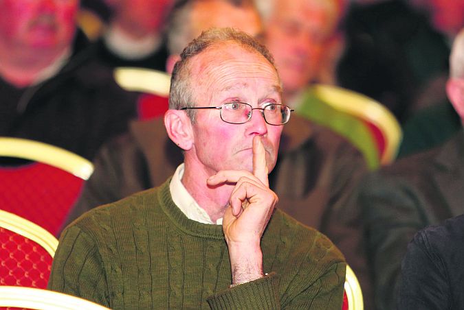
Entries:
[[421, 230], [401, 267], [398, 309], [464, 309], [464, 215]]

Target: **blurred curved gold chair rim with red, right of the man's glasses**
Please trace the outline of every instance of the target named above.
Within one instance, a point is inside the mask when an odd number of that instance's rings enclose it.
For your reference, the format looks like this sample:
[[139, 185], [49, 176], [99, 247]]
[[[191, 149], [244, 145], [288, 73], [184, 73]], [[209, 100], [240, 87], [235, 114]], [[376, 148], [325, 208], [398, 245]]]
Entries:
[[352, 115], [366, 124], [377, 143], [382, 165], [395, 160], [402, 131], [390, 110], [370, 97], [338, 86], [316, 84], [311, 91], [329, 106]]

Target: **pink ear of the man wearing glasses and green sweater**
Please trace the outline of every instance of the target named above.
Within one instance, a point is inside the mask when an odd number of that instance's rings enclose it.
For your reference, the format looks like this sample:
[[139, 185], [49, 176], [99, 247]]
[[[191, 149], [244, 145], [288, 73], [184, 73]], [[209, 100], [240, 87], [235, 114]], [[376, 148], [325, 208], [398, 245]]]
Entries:
[[193, 145], [192, 122], [183, 110], [167, 110], [164, 126], [169, 138], [182, 150], [188, 151]]

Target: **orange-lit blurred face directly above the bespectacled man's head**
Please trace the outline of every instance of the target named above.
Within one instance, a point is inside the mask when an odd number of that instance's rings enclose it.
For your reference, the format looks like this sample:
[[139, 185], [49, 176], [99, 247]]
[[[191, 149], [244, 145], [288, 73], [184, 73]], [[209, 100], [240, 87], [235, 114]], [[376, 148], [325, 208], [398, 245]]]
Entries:
[[247, 34], [261, 34], [262, 26], [258, 12], [241, 8], [223, 1], [198, 1], [191, 15], [193, 34], [199, 36], [210, 27], [232, 27]]

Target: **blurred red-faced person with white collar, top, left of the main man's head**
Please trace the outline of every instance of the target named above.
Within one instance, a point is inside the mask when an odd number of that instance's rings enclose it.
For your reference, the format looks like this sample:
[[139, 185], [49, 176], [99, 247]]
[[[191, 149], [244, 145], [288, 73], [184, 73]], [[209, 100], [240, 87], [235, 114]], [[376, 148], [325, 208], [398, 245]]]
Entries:
[[165, 71], [166, 18], [174, 0], [104, 0], [110, 18], [97, 41], [98, 58], [110, 67]]

